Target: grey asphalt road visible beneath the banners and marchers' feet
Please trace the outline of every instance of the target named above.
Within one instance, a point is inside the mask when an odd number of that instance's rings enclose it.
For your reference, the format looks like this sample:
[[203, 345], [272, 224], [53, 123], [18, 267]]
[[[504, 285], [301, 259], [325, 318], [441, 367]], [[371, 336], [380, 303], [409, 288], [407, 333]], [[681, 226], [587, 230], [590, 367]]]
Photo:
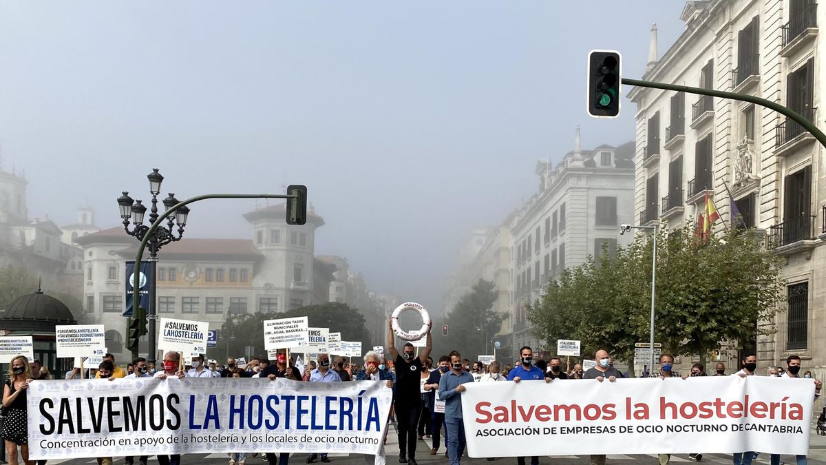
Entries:
[[[387, 451], [387, 465], [396, 465], [398, 463], [398, 455], [399, 455], [399, 446], [398, 446], [398, 439], [396, 437], [396, 424], [391, 424], [391, 432], [387, 436], [387, 445], [385, 446]], [[444, 458], [444, 441], [442, 441], [442, 448], [439, 449], [439, 454], [437, 455], [430, 455], [430, 441], [425, 443], [425, 441], [420, 441], [417, 447], [416, 453], [416, 462], [420, 463], [420, 465], [447, 465], [448, 459]], [[294, 453], [290, 458], [291, 465], [303, 465], [305, 463], [305, 459], [307, 457], [306, 453]], [[812, 425], [811, 429], [811, 439], [810, 439], [810, 447], [809, 447], [809, 463], [813, 463], [814, 465], [826, 465], [826, 436], [819, 436], [814, 433], [814, 424]], [[687, 455], [672, 455], [672, 463], [694, 463], [694, 460], [691, 460]], [[795, 465], [795, 458], [792, 456], [782, 456], [781, 460], [783, 460], [788, 465]], [[634, 463], [640, 464], [650, 464], [650, 465], [657, 465], [657, 455], [609, 455], [608, 461], [606, 465], [631, 465], [631, 461]], [[341, 454], [341, 453], [331, 453], [330, 454], [330, 462], [331, 465], [364, 465], [368, 463], [365, 461], [365, 457], [361, 454]], [[731, 465], [732, 464], [732, 456], [731, 454], [724, 454], [724, 453], [711, 453], [711, 454], [703, 454], [703, 463], [719, 463], [724, 465]], [[20, 463], [23, 463], [20, 460]], [[59, 464], [67, 464], [67, 465], [89, 465], [97, 463], [94, 458], [67, 458], [61, 460], [50, 460], [48, 462], [49, 465], [59, 465]], [[114, 459], [115, 465], [124, 465], [125, 460], [122, 457], [116, 457]], [[262, 461], [261, 456], [257, 457], [249, 457], [247, 458], [246, 465], [264, 465], [266, 462]], [[369, 462], [371, 465], [373, 464], [373, 460]], [[515, 465], [516, 459], [515, 458], [498, 458], [492, 462], [487, 461], [484, 458], [468, 458], [464, 457], [462, 459], [462, 463], [467, 463], [468, 465], [491, 465], [491, 464], [510, 464]], [[528, 460], [530, 463], [530, 460]], [[540, 457], [539, 463], [553, 463], [554, 465], [567, 465], [567, 464], [576, 464], [576, 465], [589, 465], [590, 460], [587, 455], [566, 455], [566, 456], [547, 456], [547, 457]], [[769, 455], [767, 453], [762, 453], [760, 456], [755, 460], [753, 463], [759, 465], [767, 465], [769, 463]], [[211, 454], [189, 454], [184, 455], [181, 459], [182, 465], [228, 465], [229, 458], [225, 453], [211, 453]], [[316, 461], [317, 465], [320, 465], [320, 461]], [[135, 465], [140, 465], [137, 461], [135, 461]], [[149, 465], [158, 465], [157, 460], [155, 458], [150, 458]]]

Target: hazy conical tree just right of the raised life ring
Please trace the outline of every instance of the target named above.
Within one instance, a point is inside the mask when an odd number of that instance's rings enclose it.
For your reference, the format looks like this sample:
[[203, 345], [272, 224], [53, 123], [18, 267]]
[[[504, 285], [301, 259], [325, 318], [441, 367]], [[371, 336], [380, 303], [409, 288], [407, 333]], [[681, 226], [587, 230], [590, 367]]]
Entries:
[[[492, 281], [478, 280], [472, 289], [444, 316], [449, 326], [448, 338], [434, 338], [434, 361], [439, 355], [458, 350], [468, 359], [493, 352], [488, 339], [499, 332], [505, 316], [493, 310], [496, 302], [496, 285]], [[441, 328], [434, 331], [441, 333]]]

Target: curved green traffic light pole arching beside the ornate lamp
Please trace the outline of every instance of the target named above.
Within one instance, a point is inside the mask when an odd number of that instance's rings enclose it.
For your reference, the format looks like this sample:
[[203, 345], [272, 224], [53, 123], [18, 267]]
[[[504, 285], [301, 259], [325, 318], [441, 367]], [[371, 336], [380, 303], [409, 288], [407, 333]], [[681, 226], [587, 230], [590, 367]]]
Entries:
[[[292, 187], [292, 186], [291, 186]], [[291, 192], [295, 192], [291, 190]], [[305, 191], [306, 192], [306, 191]], [[301, 199], [304, 196], [305, 199]], [[306, 195], [305, 194], [204, 194], [204, 195], [197, 195], [192, 197], [191, 199], [182, 200], [175, 204], [173, 207], [166, 210], [164, 213], [161, 213], [157, 219], [155, 219], [154, 223], [150, 225], [149, 230], [146, 231], [144, 234], [144, 238], [140, 241], [140, 246], [138, 247], [138, 254], [135, 257], [135, 263], [139, 264], [140, 260], [144, 256], [144, 250], [146, 249], [146, 245], [150, 242], [150, 238], [152, 237], [152, 232], [157, 229], [161, 223], [164, 222], [164, 219], [168, 218], [169, 215], [174, 214], [178, 209], [183, 207], [184, 205], [193, 204], [199, 200], [206, 200], [206, 199], [287, 199], [287, 204], [290, 204], [292, 200], [298, 200], [299, 203], [306, 202]], [[289, 208], [288, 208], [289, 210]], [[153, 271], [154, 267], [157, 265], [157, 261], [153, 262]], [[140, 268], [138, 268], [140, 270]], [[154, 362], [155, 357], [157, 355], [157, 338], [158, 338], [158, 327], [157, 327], [157, 314], [155, 314], [155, 305], [154, 301], [157, 298], [155, 295], [155, 283], [154, 279], [156, 276], [153, 276], [153, 282], [150, 284], [150, 312], [147, 314], [146, 318], [149, 320], [149, 353], [146, 357], [149, 362]], [[135, 281], [132, 283], [132, 289], [140, 289], [140, 273], [135, 273]], [[136, 293], [135, 293], [136, 294]], [[138, 301], [135, 298], [135, 301]]]

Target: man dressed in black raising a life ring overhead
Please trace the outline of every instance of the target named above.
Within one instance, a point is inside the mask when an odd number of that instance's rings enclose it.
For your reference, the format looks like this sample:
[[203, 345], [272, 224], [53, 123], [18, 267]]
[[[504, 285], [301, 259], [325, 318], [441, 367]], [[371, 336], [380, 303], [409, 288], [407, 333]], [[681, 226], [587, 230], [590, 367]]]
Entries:
[[433, 348], [433, 339], [430, 338], [430, 322], [428, 324], [427, 345], [422, 348], [419, 357], [415, 356], [413, 344], [406, 343], [401, 354], [396, 350], [396, 335], [393, 333], [393, 320], [387, 321], [387, 352], [390, 358], [396, 361], [396, 419], [399, 434], [399, 463], [418, 465], [415, 461], [415, 446], [417, 442], [416, 428], [421, 415], [420, 378], [422, 367], [430, 357]]

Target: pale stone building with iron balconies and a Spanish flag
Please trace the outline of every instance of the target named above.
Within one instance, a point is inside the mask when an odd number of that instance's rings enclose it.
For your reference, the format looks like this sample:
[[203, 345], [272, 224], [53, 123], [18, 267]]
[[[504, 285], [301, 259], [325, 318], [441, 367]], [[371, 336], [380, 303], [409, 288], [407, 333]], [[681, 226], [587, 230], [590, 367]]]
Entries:
[[[820, 126], [823, 78], [816, 65], [824, 14], [812, 0], [686, 2], [686, 29], [662, 56], [653, 28], [643, 79], [767, 98]], [[715, 229], [723, 222], [758, 228], [785, 263], [788, 308], [769, 322], [775, 332], [740, 342], [728, 356], [734, 361], [736, 349], [756, 350], [766, 367], [795, 353], [805, 367], [824, 365], [826, 331], [812, 324], [826, 317], [822, 147], [799, 124], [752, 103], [645, 88], [629, 98], [637, 104], [638, 221], [681, 228], [708, 194], [721, 215]], [[732, 204], [739, 220], [731, 218]]]

